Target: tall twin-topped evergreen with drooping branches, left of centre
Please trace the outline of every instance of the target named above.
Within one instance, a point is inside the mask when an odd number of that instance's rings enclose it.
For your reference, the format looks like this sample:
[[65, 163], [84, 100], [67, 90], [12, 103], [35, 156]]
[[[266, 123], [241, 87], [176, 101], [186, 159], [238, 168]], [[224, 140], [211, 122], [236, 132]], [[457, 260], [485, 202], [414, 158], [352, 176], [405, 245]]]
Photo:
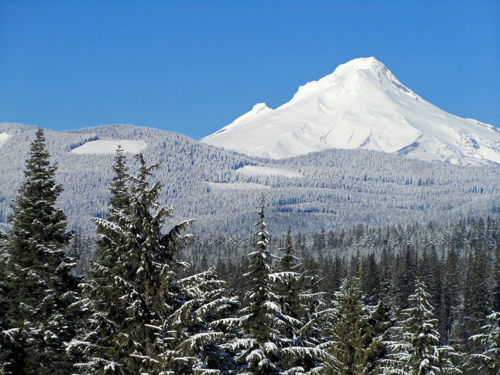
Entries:
[[[158, 373], [165, 361], [175, 367], [193, 360], [164, 358], [164, 342], [159, 342], [155, 333], [164, 322], [164, 314], [175, 310], [170, 291], [172, 266], [178, 263], [174, 256], [191, 237], [181, 235], [181, 231], [195, 220], [161, 233], [164, 218], [173, 217], [173, 209], [156, 202], [161, 183], [149, 187], [147, 182], [160, 163], [146, 166], [140, 153], [135, 159], [140, 164], [137, 177], [120, 169], [122, 155], [117, 151], [117, 175], [115, 185], [111, 185], [116, 188], [116, 199], [110, 200], [107, 219], [94, 218], [101, 254], [93, 264], [92, 280], [84, 285], [93, 313], [89, 332], [71, 347], [81, 350], [86, 359], [76, 364], [82, 373]], [[122, 172], [127, 177], [126, 186], [118, 178]]]

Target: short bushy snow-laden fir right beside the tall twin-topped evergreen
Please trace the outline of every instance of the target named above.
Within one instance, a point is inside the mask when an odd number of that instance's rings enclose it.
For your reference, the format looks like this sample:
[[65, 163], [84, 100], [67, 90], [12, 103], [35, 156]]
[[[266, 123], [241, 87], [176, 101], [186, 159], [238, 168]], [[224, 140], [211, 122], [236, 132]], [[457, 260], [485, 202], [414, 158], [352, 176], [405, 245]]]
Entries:
[[[174, 338], [169, 347], [177, 356], [195, 357], [186, 374], [212, 374], [234, 368], [229, 353], [220, 345], [238, 336], [235, 319], [238, 308], [234, 298], [227, 296], [225, 282], [217, 280], [215, 267], [205, 272], [171, 281], [171, 304], [177, 308], [164, 315], [163, 329]], [[191, 370], [192, 368], [192, 370]], [[182, 373], [177, 368], [176, 373]]]

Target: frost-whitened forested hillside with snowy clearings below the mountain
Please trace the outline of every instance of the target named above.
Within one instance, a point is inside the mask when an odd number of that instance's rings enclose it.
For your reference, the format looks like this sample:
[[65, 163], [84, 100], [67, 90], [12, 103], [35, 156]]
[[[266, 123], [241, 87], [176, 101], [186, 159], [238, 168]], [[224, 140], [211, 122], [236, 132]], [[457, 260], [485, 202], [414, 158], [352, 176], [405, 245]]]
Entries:
[[[6, 229], [10, 202], [22, 179], [22, 163], [34, 127], [1, 124], [8, 137], [0, 146], [0, 225]], [[498, 168], [424, 162], [370, 150], [330, 149], [280, 160], [260, 159], [199, 143], [181, 134], [145, 127], [112, 125], [45, 132], [56, 179], [65, 189], [58, 206], [72, 229], [93, 230], [90, 217], [102, 217], [112, 177], [112, 153], [74, 153], [93, 140], [141, 140], [150, 162], [161, 162], [156, 176], [164, 185], [159, 200], [175, 206], [177, 217], [198, 221], [193, 230], [203, 236], [229, 230], [249, 234], [254, 202], [262, 191], [268, 198], [267, 217], [273, 229], [311, 234], [318, 227], [348, 229], [402, 225], [457, 218], [496, 216]], [[127, 153], [130, 160], [132, 153]], [[297, 177], [248, 173], [245, 165], [292, 171]], [[130, 163], [130, 170], [135, 166]], [[301, 176], [301, 177], [300, 177]]]

